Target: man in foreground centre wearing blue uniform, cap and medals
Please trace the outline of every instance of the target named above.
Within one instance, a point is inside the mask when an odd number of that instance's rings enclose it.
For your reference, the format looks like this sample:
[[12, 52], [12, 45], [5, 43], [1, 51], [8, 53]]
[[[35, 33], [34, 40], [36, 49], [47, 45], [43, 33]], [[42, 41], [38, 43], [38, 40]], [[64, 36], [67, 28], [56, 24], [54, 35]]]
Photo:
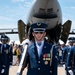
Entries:
[[57, 75], [56, 48], [44, 40], [47, 24], [34, 23], [31, 28], [34, 41], [28, 47], [21, 73], [28, 67], [27, 75]]

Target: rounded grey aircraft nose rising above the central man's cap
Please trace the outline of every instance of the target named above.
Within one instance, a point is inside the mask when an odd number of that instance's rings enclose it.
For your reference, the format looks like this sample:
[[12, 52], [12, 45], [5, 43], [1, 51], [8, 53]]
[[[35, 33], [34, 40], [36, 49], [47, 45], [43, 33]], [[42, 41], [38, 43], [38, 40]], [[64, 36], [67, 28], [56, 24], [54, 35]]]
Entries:
[[61, 8], [57, 0], [36, 0], [30, 11], [28, 23], [44, 22], [48, 29], [62, 24]]

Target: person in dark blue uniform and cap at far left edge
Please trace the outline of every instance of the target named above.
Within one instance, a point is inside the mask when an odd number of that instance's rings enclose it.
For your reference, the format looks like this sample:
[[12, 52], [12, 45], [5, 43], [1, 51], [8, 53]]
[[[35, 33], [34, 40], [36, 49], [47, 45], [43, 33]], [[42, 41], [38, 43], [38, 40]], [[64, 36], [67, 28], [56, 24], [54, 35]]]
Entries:
[[9, 75], [9, 67], [12, 65], [13, 60], [12, 46], [8, 44], [9, 37], [6, 35], [1, 35], [1, 42], [2, 44], [0, 45], [0, 54], [2, 61], [0, 62], [2, 63], [2, 66], [0, 75]]

